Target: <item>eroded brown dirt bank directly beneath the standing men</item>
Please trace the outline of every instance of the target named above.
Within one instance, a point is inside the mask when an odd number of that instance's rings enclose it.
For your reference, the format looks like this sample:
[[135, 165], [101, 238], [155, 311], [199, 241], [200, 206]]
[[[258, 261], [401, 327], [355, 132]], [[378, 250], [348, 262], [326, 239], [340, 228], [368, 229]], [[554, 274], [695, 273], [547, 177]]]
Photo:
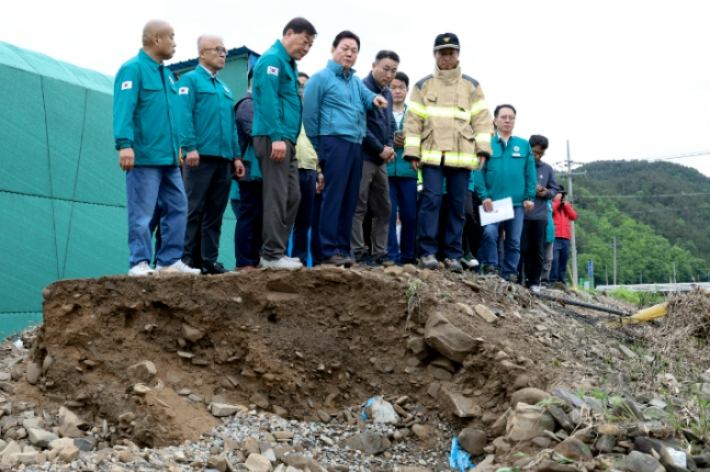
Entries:
[[[38, 388], [39, 401], [151, 446], [218, 424], [212, 401], [316, 420], [375, 395], [408, 395], [421, 411], [483, 427], [507, 409], [516, 382], [545, 389], [563, 380], [545, 367], [554, 353], [520, 326], [527, 291], [483, 283], [400, 268], [64, 280], [44, 291], [33, 358], [42, 373], [25, 393]], [[430, 316], [475, 348], [441, 356], [425, 329]], [[145, 361], [156, 374], [136, 367]]]

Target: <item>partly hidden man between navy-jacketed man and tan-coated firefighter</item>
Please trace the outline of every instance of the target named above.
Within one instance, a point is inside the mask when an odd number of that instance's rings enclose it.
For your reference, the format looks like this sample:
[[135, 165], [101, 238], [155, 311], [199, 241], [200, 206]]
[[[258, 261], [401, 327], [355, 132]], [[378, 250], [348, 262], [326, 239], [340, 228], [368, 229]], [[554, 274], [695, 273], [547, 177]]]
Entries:
[[[404, 72], [397, 72], [392, 85], [392, 125], [394, 135], [394, 160], [387, 163], [389, 177], [390, 229], [387, 236], [387, 255], [397, 265], [416, 264], [414, 243], [417, 235], [417, 172], [404, 160], [404, 116], [407, 105], [404, 101], [409, 91], [409, 77]], [[402, 223], [400, 238], [397, 241], [397, 215]]]

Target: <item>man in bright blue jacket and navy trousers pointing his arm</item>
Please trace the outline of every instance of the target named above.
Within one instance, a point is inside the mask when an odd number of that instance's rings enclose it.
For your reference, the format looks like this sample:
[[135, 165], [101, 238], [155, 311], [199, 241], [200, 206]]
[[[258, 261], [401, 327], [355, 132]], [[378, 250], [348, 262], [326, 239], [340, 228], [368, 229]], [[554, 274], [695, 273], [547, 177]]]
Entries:
[[359, 51], [355, 33], [338, 33], [331, 49], [333, 59], [313, 74], [303, 90], [303, 125], [318, 152], [325, 181], [319, 227], [323, 264], [346, 267], [353, 264], [350, 238], [360, 192], [365, 113], [373, 105], [387, 107], [387, 100], [355, 76]]

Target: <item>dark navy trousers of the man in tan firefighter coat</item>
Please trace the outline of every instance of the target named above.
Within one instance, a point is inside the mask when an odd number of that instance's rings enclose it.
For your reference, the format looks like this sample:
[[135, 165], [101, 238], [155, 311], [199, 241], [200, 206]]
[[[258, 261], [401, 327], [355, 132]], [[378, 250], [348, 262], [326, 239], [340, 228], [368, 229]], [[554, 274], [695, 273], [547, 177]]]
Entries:
[[436, 255], [439, 252], [437, 242], [439, 212], [442, 208], [442, 187], [446, 177], [446, 194], [448, 197], [448, 215], [446, 222], [443, 255], [448, 259], [461, 259], [461, 245], [465, 221], [464, 200], [471, 171], [456, 167], [423, 166], [422, 178], [424, 189], [421, 193], [419, 209], [419, 247], [422, 257]]

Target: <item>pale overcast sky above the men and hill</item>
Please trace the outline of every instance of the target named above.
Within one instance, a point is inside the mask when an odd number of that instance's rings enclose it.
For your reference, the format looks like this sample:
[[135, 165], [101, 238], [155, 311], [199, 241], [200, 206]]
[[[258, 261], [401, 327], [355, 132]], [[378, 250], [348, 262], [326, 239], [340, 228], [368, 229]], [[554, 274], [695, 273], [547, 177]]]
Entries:
[[[417, 2], [358, 0], [40, 0], [3, 2], [0, 41], [114, 75], [140, 48], [145, 22], [175, 28], [175, 61], [197, 56], [203, 33], [263, 52], [294, 16], [319, 32], [299, 68], [330, 58], [333, 37], [357, 33], [364, 77], [380, 49], [412, 82], [434, 68], [438, 33], [456, 33], [461, 66], [491, 109], [518, 109], [515, 134], [550, 138], [546, 159], [638, 159], [710, 151], [710, 3], [705, 0]], [[710, 155], [671, 162], [710, 175]]]

